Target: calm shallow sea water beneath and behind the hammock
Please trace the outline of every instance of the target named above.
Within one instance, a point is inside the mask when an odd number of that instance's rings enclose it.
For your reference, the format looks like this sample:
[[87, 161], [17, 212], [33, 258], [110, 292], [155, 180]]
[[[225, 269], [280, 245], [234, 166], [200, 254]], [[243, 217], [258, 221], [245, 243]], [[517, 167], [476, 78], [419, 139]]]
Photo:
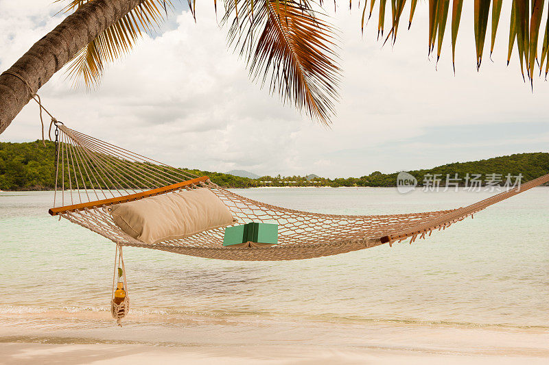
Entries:
[[[491, 194], [398, 194], [393, 188], [237, 192], [339, 214], [449, 209]], [[49, 216], [51, 201], [51, 192], [0, 193], [0, 328], [84, 333], [90, 323], [112, 326], [114, 244]], [[535, 188], [428, 240], [311, 260], [230, 262], [128, 247], [132, 310], [126, 323], [170, 328], [188, 326], [189, 318], [280, 318], [546, 329], [548, 204], [549, 188]]]

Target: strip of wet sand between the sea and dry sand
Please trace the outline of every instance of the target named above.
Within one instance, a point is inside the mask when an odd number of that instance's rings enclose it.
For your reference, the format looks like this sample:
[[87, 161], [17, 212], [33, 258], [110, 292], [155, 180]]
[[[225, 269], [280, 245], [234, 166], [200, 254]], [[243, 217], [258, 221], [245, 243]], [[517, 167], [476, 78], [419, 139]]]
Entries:
[[[166, 327], [166, 325], [169, 325]], [[249, 337], [250, 331], [254, 336]], [[148, 333], [157, 333], [148, 336]], [[447, 340], [451, 339], [452, 342]], [[306, 318], [257, 314], [167, 314], [139, 308], [118, 327], [106, 310], [20, 312], [0, 314], [0, 343], [143, 344], [223, 347], [246, 343], [338, 347], [531, 348], [549, 356], [549, 327], [482, 325], [411, 320]]]

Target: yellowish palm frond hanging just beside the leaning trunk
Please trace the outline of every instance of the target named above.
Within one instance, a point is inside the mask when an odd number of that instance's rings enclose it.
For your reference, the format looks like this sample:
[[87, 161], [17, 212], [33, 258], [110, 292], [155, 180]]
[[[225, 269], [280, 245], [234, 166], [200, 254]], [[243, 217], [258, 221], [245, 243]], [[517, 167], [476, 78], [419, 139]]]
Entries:
[[[93, 0], [56, 0], [66, 2], [62, 11], [74, 12]], [[129, 53], [144, 32], [150, 32], [163, 21], [172, 8], [171, 0], [143, 0], [141, 4], [105, 29], [75, 55], [67, 74], [78, 87], [82, 82], [87, 89], [99, 84], [107, 64]]]

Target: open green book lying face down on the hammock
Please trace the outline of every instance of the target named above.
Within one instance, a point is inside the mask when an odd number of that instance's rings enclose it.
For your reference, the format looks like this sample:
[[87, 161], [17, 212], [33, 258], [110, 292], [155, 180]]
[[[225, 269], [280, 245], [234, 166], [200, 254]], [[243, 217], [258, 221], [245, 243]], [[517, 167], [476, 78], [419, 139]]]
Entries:
[[226, 227], [223, 246], [264, 247], [278, 243], [278, 225], [251, 222]]

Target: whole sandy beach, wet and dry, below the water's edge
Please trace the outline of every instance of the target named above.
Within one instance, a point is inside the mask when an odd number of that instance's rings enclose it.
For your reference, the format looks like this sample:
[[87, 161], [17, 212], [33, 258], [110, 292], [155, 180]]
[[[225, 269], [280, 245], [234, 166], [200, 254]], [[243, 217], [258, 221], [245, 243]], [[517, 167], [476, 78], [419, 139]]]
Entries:
[[[194, 318], [0, 327], [3, 364], [546, 364], [549, 329]], [[36, 325], [36, 322], [33, 322]], [[170, 323], [170, 328], [165, 327]], [[85, 327], [85, 329], [78, 329]], [[154, 336], [151, 336], [154, 333]], [[160, 340], [163, 338], [163, 340]]]

